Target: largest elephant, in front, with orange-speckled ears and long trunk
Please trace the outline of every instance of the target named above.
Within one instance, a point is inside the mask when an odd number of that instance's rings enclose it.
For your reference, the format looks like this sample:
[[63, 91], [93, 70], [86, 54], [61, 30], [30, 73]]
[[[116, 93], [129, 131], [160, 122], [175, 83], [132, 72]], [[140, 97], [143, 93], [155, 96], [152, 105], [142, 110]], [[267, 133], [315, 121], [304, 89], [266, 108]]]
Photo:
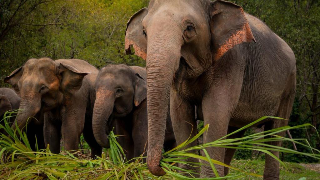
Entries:
[[[127, 53], [131, 53], [131, 45], [147, 61], [147, 164], [154, 175], [165, 174], [159, 162], [169, 102], [178, 144], [190, 133], [196, 134], [196, 128], [190, 125], [196, 127], [195, 106], [199, 118], [210, 124], [204, 143], [262, 116], [289, 118], [296, 89], [294, 54], [263, 22], [236, 4], [221, 0], [151, 0], [148, 8], [128, 22]], [[267, 119], [257, 126], [264, 124], [269, 130], [287, 123]], [[281, 142], [271, 144], [280, 146]], [[214, 147], [207, 151], [226, 164], [234, 153]], [[279, 156], [278, 152], [272, 153]], [[222, 166], [216, 168], [220, 176], [228, 172]], [[212, 168], [205, 163], [200, 177], [213, 176]], [[279, 163], [266, 155], [264, 180], [278, 179]]]

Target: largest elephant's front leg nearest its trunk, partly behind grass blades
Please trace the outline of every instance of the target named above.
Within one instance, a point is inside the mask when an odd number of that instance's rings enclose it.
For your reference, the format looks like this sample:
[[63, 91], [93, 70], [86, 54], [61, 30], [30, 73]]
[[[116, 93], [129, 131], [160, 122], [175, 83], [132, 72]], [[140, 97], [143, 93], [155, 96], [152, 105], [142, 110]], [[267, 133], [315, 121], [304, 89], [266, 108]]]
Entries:
[[[170, 114], [172, 128], [177, 144], [181, 144], [189, 137], [193, 137], [197, 134], [197, 125], [195, 119], [195, 109], [190, 103], [182, 100], [174, 91], [171, 91], [170, 97]], [[188, 144], [185, 148], [196, 146], [197, 141]], [[196, 151], [190, 151], [190, 153], [197, 153]], [[184, 160], [191, 163], [199, 163], [198, 159], [188, 158]], [[193, 165], [193, 164], [191, 164]], [[199, 176], [199, 167], [193, 167], [186, 164], [179, 164], [180, 168], [191, 170], [195, 172], [193, 176]]]

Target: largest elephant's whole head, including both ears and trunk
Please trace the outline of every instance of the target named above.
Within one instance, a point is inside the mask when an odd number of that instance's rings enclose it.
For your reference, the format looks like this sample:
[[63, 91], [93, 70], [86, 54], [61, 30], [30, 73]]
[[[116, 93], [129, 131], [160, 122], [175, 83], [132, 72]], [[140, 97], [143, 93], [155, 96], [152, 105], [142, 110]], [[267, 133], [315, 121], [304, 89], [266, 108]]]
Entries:
[[234, 46], [254, 41], [246, 14], [216, 0], [151, 0], [128, 21], [125, 50], [147, 61], [149, 171], [160, 167], [170, 88], [184, 67], [185, 78], [200, 76]]

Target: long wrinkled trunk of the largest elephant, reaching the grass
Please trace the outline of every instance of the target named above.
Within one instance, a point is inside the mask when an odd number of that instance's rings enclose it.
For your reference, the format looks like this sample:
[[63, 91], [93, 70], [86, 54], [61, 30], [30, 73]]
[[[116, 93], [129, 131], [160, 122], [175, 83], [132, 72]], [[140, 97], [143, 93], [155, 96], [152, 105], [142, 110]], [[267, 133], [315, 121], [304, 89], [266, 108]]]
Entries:
[[[165, 24], [165, 23], [164, 23]], [[170, 88], [180, 62], [182, 35], [179, 27], [162, 26], [148, 34], [147, 97], [148, 97], [148, 153], [149, 171], [163, 176], [160, 167], [168, 112]]]

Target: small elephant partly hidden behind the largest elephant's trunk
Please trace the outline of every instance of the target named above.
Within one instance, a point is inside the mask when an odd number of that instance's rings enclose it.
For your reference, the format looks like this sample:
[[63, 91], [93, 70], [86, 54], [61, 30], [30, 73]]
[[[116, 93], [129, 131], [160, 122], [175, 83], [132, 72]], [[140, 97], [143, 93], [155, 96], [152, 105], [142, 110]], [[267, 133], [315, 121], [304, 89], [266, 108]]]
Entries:
[[[138, 66], [108, 65], [100, 70], [95, 83], [96, 101], [92, 127], [97, 142], [109, 147], [108, 133], [115, 134], [128, 160], [146, 151], [148, 112], [146, 69]], [[170, 115], [167, 116], [164, 150], [176, 145]]]

